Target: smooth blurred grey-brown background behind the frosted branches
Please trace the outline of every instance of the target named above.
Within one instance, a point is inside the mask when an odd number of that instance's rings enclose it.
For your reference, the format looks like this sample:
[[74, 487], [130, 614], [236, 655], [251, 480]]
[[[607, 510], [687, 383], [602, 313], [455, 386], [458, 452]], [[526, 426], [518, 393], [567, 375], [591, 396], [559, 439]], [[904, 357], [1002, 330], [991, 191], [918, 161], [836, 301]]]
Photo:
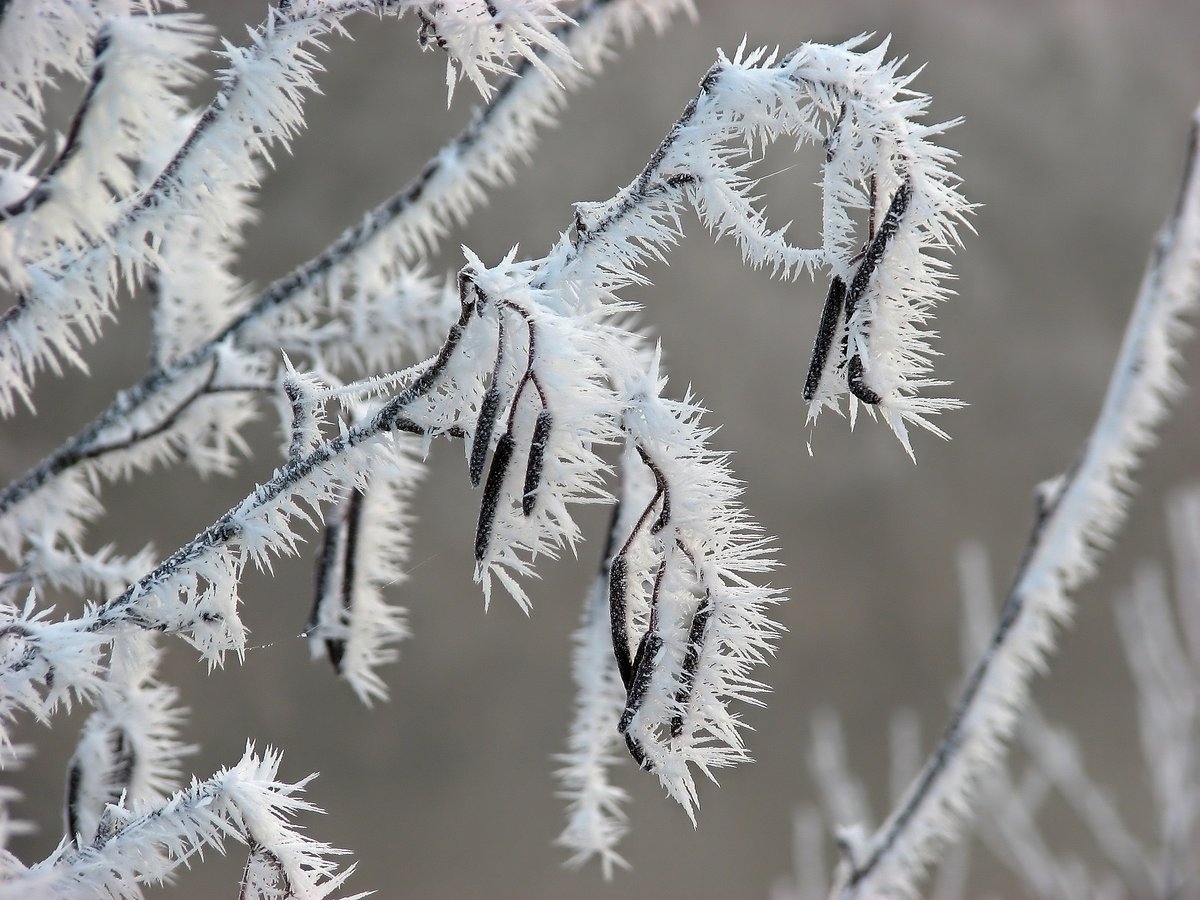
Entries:
[[[190, 4], [233, 42], [259, 4]], [[593, 540], [578, 562], [544, 564], [527, 618], [497, 602], [484, 613], [470, 582], [478, 498], [457, 451], [431, 461], [416, 509], [421, 522], [410, 580], [401, 589], [414, 637], [385, 670], [392, 690], [376, 709], [358, 704], [296, 638], [308, 611], [311, 559], [286, 562], [272, 581], [251, 575], [244, 665], [206, 674], [172, 642], [166, 674], [190, 707], [186, 738], [200, 745], [205, 776], [236, 761], [247, 738], [286, 750], [283, 773], [320, 772], [310, 798], [328, 816], [311, 833], [354, 851], [354, 890], [397, 898], [762, 898], [791, 870], [791, 817], [815, 797], [806, 770], [810, 716], [834, 708], [850, 764], [886, 809], [888, 718], [914, 708], [930, 745], [960, 676], [955, 557], [966, 540], [988, 550], [996, 589], [1007, 583], [1032, 518], [1032, 491], [1074, 457], [1098, 409], [1154, 230], [1177, 186], [1190, 113], [1200, 101], [1200, 5], [1189, 0], [860, 0], [698, 2], [698, 20], [637, 36], [619, 62], [577, 94], [560, 127], [539, 145], [516, 184], [431, 260], [460, 265], [458, 244], [494, 260], [520, 241], [540, 256], [570, 222], [574, 200], [610, 197], [640, 170], [695, 94], [718, 47], [790, 49], [860, 32], [892, 35], [916, 88], [934, 97], [931, 119], [964, 116], [946, 138], [961, 154], [964, 192], [982, 204], [978, 235], [954, 259], [958, 296], [941, 310], [938, 373], [970, 406], [938, 421], [953, 440], [916, 434], [918, 463], [881, 425], [823, 416], [809, 433], [799, 383], [824, 284], [781, 284], [742, 266], [732, 244], [713, 246], [694, 220], [654, 286], [635, 296], [661, 334], [672, 391], [690, 384], [722, 422], [746, 504], [778, 535], [774, 577], [791, 596], [787, 632], [763, 674], [774, 692], [745, 710], [756, 762], [701, 786], [700, 823], [665, 799], [653, 778], [623, 766], [632, 865], [605, 883], [596, 868], [564, 870], [552, 845], [563, 827], [552, 757], [571, 713], [570, 635], [601, 552], [606, 512], [584, 516]], [[286, 272], [389, 196], [449, 137], [475, 97], [445, 110], [444, 59], [421, 54], [415, 20], [348, 23], [354, 41], [331, 41], [322, 96], [290, 155], [276, 157], [250, 234], [244, 274], [259, 284]], [[206, 97], [197, 97], [206, 102]], [[779, 148], [764, 172], [792, 164]], [[814, 158], [764, 182], [773, 221], [797, 221], [812, 241]], [[113, 391], [144, 371], [145, 308], [122, 301], [89, 352], [92, 376], [43, 378], [37, 418], [8, 425], [6, 479], [89, 420]], [[1196, 354], [1190, 358], [1195, 380]], [[257, 458], [240, 476], [202, 482], [190, 473], [106, 488], [110, 517], [95, 544], [163, 552], [191, 538], [277, 462], [274, 413], [252, 436]], [[812, 455], [806, 449], [811, 442]], [[1069, 726], [1094, 778], [1122, 812], [1152, 834], [1133, 688], [1112, 624], [1111, 600], [1135, 565], [1166, 563], [1164, 498], [1196, 479], [1200, 408], [1177, 406], [1148, 458], [1120, 546], [1079, 598], [1050, 677], [1036, 696]], [[311, 556], [311, 553], [310, 553]], [[38, 834], [14, 850], [41, 858], [59, 840], [62, 773], [80, 715], [53, 730], [30, 725], [38, 746], [16, 780], [22, 817]], [[1052, 844], [1096, 859], [1064, 809], [1046, 818]], [[830, 858], [832, 858], [830, 847]], [[244, 863], [205, 860], [173, 896], [228, 896]], [[1020, 894], [985, 852], [973, 858], [971, 895]]]

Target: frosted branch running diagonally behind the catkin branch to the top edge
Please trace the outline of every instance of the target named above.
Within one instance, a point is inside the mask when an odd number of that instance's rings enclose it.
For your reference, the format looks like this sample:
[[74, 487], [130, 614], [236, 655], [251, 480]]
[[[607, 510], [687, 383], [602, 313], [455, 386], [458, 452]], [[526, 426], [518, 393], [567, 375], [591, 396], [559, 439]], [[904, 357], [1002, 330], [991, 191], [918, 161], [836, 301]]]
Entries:
[[[268, 367], [281, 347], [359, 373], [432, 353], [454, 318], [454, 296], [412, 264], [433, 252], [448, 226], [466, 220], [488, 188], [512, 176], [539, 126], [551, 122], [563, 103], [556, 78], [577, 85], [581, 72], [596, 71], [607, 58], [616, 35], [646, 20], [661, 25], [682, 6], [682, 0], [588, 4], [576, 14], [578, 24], [562, 35], [582, 70], [554, 56], [542, 67], [522, 65], [415, 179], [250, 302], [222, 277], [223, 265], [190, 264], [197, 241], [181, 230], [188, 220], [173, 220], [162, 256], [174, 265], [160, 266], [157, 277], [166, 312], [156, 325], [167, 324], [156, 340], [158, 365], [0, 493], [0, 544], [7, 553], [19, 558], [30, 535], [50, 541], [47, 529], [80, 540], [98, 511], [97, 502], [84, 497], [95, 474], [179, 456], [202, 472], [229, 468], [252, 410], [245, 397], [230, 403], [226, 394], [212, 402], [210, 395], [228, 383], [270, 384]], [[227, 222], [238, 217], [223, 216]], [[228, 233], [203, 221], [204, 234]], [[179, 252], [190, 254], [184, 268]]]

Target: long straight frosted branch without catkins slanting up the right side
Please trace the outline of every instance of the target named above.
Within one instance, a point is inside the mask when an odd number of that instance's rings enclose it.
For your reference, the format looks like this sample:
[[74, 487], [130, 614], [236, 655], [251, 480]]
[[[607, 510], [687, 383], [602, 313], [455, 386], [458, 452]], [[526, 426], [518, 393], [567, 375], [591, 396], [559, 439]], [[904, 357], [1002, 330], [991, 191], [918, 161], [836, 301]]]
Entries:
[[1193, 118], [1187, 170], [1159, 232], [1092, 433], [1073, 467], [1043, 487], [1040, 510], [1000, 625], [953, 713], [937, 750], [904, 802], [872, 835], [860, 863], [844, 866], [842, 898], [916, 892], [937, 848], [971, 816], [973, 786], [996, 766], [1044, 668], [1070, 592], [1096, 570], [1124, 521], [1133, 472], [1154, 440], [1182, 383], [1181, 343], [1200, 293], [1200, 151]]

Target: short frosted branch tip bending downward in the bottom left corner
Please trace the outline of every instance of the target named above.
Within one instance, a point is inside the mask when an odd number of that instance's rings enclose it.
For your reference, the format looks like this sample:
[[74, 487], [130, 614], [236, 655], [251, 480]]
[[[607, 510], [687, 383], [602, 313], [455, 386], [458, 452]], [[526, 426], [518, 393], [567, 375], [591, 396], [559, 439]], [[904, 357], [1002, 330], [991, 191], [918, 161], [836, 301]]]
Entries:
[[[283, 896], [318, 900], [338, 890], [353, 866], [338, 871], [331, 857], [344, 851], [316, 841], [292, 824], [298, 815], [320, 812], [300, 798], [310, 775], [290, 784], [277, 779], [281, 755], [247, 745], [241, 761], [205, 781], [142, 809], [109, 805], [97, 838], [83, 848], [68, 842], [44, 862], [0, 881], [0, 898], [131, 898], [161, 882], [205, 847], [223, 851], [233, 838], [270, 854], [286, 880]], [[361, 896], [361, 895], [360, 895]]]

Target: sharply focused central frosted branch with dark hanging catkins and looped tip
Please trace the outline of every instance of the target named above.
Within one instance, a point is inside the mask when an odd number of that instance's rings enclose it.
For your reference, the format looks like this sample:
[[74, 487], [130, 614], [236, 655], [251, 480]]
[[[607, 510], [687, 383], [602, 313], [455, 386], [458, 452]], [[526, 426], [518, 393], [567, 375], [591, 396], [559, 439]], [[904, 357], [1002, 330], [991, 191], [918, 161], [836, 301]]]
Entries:
[[[838, 355], [827, 361], [814, 409], [835, 408], [846, 395], [853, 416], [859, 402], [868, 403], [911, 452], [905, 421], [928, 425], [924, 416], [946, 406], [916, 394], [930, 384], [917, 325], [942, 294], [942, 264], [930, 252], [953, 245], [967, 206], [943, 166], [948, 154], [926, 140], [946, 126], [918, 126], [925, 98], [908, 91], [896, 64], [884, 62], [883, 47], [859, 53], [862, 43], [806, 44], [782, 58], [721, 56], [638, 176], [606, 203], [580, 204], [574, 229], [546, 257], [520, 262], [510, 254], [487, 266], [468, 253], [458, 275], [458, 320], [426, 362], [344, 386], [287, 376], [293, 428], [287, 463], [127, 589], [56, 623], [65, 640], [91, 641], [77, 654], [91, 661], [80, 662], [74, 690], [97, 689], [100, 636], [127, 626], [180, 634], [214, 662], [228, 650], [240, 654], [245, 629], [236, 605], [245, 564], [269, 566], [272, 556], [294, 553], [294, 524], [336, 502], [311, 636], [343, 668], [355, 629], [373, 631], [353, 679], [365, 697], [379, 696], [371, 667], [389, 654], [378, 638], [398, 636], [400, 628], [386, 607], [365, 600], [389, 569], [368, 574], [362, 548], [380, 528], [367, 515], [372, 481], [396, 464], [406, 442], [419, 437], [427, 450], [438, 436], [464, 439], [469, 475], [481, 487], [475, 578], [485, 601], [499, 582], [523, 607], [529, 599], [521, 580], [534, 574], [535, 560], [581, 538], [571, 504], [607, 499], [608, 467], [598, 450], [619, 443], [628, 517], [617, 523], [604, 594], [624, 698], [610, 727], [694, 816], [694, 773], [712, 778], [714, 769], [746, 758], [733, 706], [758, 702], [763, 685], [751, 673], [772, 653], [778, 628], [767, 613], [781, 595], [754, 581], [773, 566], [772, 551], [740, 505], [725, 455], [710, 448], [701, 407], [690, 396], [664, 396], [659, 354], [628, 329], [634, 306], [618, 292], [640, 283], [644, 262], [674, 242], [684, 204], [713, 232], [734, 238], [751, 265], [785, 277], [818, 266], [844, 270], [850, 287], [836, 325]], [[780, 137], [828, 148], [821, 247], [792, 246], [766, 226], [751, 200], [754, 154]], [[880, 186], [893, 192], [887, 203], [876, 199]], [[853, 236], [856, 209], [870, 222], [862, 252]], [[373, 228], [368, 223], [346, 241], [362, 245]], [[424, 241], [434, 236], [427, 229], [415, 234]], [[188, 373], [191, 383], [178, 397], [158, 398], [162, 416], [176, 416], [199, 395], [228, 384], [229, 358], [232, 367], [242, 353], [233, 337], [227, 332], [218, 344], [224, 356]], [[264, 380], [256, 365], [254, 378], [239, 383]], [[323, 407], [335, 397], [376, 407], [324, 437]], [[143, 401], [119, 400], [133, 402]], [[649, 479], [630, 475], [634, 470]], [[402, 494], [412, 478], [401, 482]], [[18, 670], [29, 676], [26, 706], [40, 714], [53, 708], [53, 697], [43, 698], [37, 688], [49, 665], [40, 654], [52, 640], [24, 644], [30, 660], [43, 665]], [[62, 679], [54, 683], [67, 690]], [[604, 704], [587, 708], [599, 712]], [[578, 727], [607, 739], [592, 722]], [[607, 758], [588, 738], [572, 750], [569, 769], [577, 754]], [[599, 810], [610, 820], [616, 814], [614, 796], [596, 803], [588, 794], [601, 781], [578, 786], [577, 814]], [[565, 840], [581, 858], [598, 852], [614, 860], [617, 829], [610, 824], [571, 827]]]

